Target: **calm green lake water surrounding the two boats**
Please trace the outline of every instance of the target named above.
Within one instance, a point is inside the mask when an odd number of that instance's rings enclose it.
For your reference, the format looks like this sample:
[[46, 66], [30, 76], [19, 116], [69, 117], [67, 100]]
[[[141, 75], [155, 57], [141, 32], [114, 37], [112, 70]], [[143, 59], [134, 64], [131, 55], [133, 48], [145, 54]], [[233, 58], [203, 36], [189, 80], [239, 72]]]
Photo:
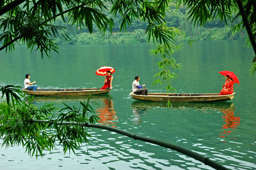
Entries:
[[[101, 66], [115, 68], [113, 89], [107, 95], [92, 97], [92, 105], [101, 124], [131, 133], [177, 144], [229, 169], [256, 169], [256, 76], [250, 76], [251, 48], [244, 41], [202, 41], [172, 57], [183, 65], [172, 86], [178, 93], [219, 93], [225, 77], [219, 72], [234, 71], [240, 84], [234, 85], [233, 100], [216, 103], [165, 103], [135, 101], [129, 93], [136, 74], [149, 92], [165, 92], [165, 86], [152, 87], [158, 72], [159, 56], [149, 56], [153, 44], [103, 44], [60, 46], [60, 54], [41, 59], [40, 52], [15, 47], [11, 54], [0, 51], [0, 85], [23, 86], [25, 74], [31, 74], [38, 88], [99, 88], [104, 77], [95, 71]], [[79, 107], [87, 97], [35, 97], [34, 104], [61, 102]], [[25, 149], [0, 148], [1, 169], [19, 170], [198, 170], [213, 169], [203, 163], [151, 143], [145, 143], [107, 130], [90, 129], [90, 144], [79, 147], [76, 154], [63, 154], [62, 147], [44, 157], [30, 158]], [[0, 139], [0, 144], [2, 140]], [[87, 155], [88, 149], [88, 155]]]

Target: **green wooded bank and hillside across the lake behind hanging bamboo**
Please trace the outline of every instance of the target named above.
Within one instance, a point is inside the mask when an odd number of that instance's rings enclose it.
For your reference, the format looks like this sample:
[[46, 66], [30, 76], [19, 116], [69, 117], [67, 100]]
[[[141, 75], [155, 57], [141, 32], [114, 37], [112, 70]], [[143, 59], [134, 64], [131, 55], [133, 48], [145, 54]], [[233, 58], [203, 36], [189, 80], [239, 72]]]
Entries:
[[[110, 8], [110, 4], [106, 5]], [[110, 10], [103, 10], [103, 13], [110, 15]], [[175, 41], [188, 41], [188, 39], [193, 41], [204, 41], [204, 40], [236, 40], [245, 39], [248, 37], [246, 32], [242, 29], [239, 32], [233, 32], [232, 27], [241, 22], [241, 18], [231, 22], [228, 21], [227, 25], [221, 22], [220, 19], [215, 19], [212, 21], [207, 21], [204, 26], [197, 24], [194, 27], [194, 23], [191, 22], [192, 19], [188, 19], [187, 7], [180, 6], [175, 8], [175, 5], [169, 6], [166, 10], [166, 25], [168, 27], [175, 27], [184, 32], [184, 35], [176, 36]], [[235, 15], [235, 14], [234, 14]], [[96, 27], [93, 27], [92, 34], [89, 33], [87, 28], [82, 28], [78, 26], [72, 26], [72, 23], [64, 23], [59, 17], [56, 19], [55, 24], [58, 26], [66, 27], [69, 30], [66, 31], [71, 40], [67, 41], [64, 37], [57, 38], [57, 44], [109, 44], [109, 43], [146, 43], [148, 42], [148, 35], [146, 34], [147, 22], [140, 20], [135, 20], [132, 22], [131, 27], [126, 28], [126, 32], [122, 30], [120, 32], [121, 16], [117, 14], [114, 19], [114, 27], [112, 29], [112, 34], [109, 30], [103, 34]], [[152, 42], [152, 40], [151, 40]]]

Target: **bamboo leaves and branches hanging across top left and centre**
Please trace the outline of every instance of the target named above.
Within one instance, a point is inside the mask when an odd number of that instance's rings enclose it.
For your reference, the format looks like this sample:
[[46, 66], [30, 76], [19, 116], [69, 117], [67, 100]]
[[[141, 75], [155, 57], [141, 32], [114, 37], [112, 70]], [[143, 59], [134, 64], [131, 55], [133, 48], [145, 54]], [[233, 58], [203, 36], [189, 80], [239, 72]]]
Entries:
[[[93, 32], [93, 24], [101, 32], [114, 27], [113, 18], [121, 15], [120, 31], [132, 25], [133, 20], [143, 20], [149, 23], [147, 33], [150, 33], [154, 41], [167, 43], [171, 40], [169, 34], [160, 31], [158, 25], [164, 22], [165, 10], [171, 0], [7, 0], [0, 5], [0, 29], [4, 32], [0, 35], [3, 46], [0, 50], [9, 48], [14, 50], [14, 42], [27, 44], [28, 48], [41, 51], [41, 56], [50, 57], [51, 51], [58, 51], [58, 45], [54, 43], [56, 37], [63, 36], [70, 40], [65, 27], [54, 25], [56, 17], [61, 16], [64, 22], [72, 25], [88, 28]], [[102, 10], [108, 10], [106, 4], [112, 4], [111, 15], [107, 16]], [[68, 21], [64, 15], [67, 15]], [[158, 28], [157, 28], [158, 27]], [[157, 28], [157, 29], [156, 29]], [[60, 32], [60, 35], [59, 35]]]

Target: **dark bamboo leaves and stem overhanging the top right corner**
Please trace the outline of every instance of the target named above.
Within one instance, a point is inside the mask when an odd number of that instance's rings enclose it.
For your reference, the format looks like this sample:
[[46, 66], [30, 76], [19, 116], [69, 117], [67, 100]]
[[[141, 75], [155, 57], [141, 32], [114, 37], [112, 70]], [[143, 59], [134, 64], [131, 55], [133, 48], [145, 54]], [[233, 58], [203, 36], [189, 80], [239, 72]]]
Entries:
[[[233, 31], [240, 31], [246, 28], [249, 37], [246, 39], [246, 45], [251, 44], [256, 55], [256, 1], [255, 0], [177, 0], [177, 3], [187, 5], [188, 19], [192, 18], [192, 22], [201, 26], [206, 21], [220, 19], [227, 25], [228, 20], [231, 23], [242, 18], [241, 22], [234, 24]], [[256, 69], [254, 65], [251, 68]]]

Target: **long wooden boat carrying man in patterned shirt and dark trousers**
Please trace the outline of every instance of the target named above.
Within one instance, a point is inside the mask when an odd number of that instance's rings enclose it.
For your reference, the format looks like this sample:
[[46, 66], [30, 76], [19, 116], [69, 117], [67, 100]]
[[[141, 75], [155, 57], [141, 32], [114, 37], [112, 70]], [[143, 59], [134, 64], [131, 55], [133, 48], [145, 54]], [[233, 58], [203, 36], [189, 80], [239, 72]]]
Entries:
[[135, 100], [155, 101], [155, 102], [221, 102], [234, 98], [231, 95], [220, 96], [218, 93], [210, 94], [180, 94], [180, 93], [148, 93], [148, 96], [136, 95], [133, 92], [130, 96]]

